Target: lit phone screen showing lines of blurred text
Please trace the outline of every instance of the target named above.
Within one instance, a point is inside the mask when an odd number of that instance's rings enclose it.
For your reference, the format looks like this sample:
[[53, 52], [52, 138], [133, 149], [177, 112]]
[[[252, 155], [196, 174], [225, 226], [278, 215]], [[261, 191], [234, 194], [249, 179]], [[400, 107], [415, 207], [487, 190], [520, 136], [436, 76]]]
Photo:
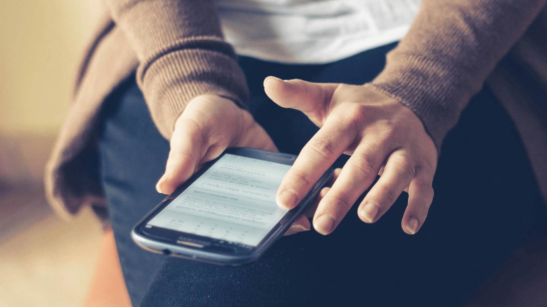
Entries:
[[224, 154], [147, 226], [257, 246], [287, 214], [275, 194], [289, 168]]

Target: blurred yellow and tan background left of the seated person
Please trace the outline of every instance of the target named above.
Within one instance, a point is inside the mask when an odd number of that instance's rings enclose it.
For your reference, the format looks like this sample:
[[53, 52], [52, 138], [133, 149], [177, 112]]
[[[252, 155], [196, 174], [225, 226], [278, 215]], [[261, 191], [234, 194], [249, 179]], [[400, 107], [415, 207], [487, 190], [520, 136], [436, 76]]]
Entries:
[[91, 37], [95, 1], [4, 1], [0, 9], [0, 306], [80, 306], [102, 230], [61, 221], [42, 176]]

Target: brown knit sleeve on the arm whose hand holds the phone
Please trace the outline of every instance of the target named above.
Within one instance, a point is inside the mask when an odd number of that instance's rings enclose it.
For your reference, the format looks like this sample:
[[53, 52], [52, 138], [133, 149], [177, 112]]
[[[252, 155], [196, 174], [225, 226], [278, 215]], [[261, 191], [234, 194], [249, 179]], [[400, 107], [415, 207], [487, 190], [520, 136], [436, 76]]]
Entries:
[[107, 0], [136, 52], [137, 83], [160, 133], [192, 98], [223, 96], [245, 107], [248, 88], [232, 47], [224, 42], [213, 0]]

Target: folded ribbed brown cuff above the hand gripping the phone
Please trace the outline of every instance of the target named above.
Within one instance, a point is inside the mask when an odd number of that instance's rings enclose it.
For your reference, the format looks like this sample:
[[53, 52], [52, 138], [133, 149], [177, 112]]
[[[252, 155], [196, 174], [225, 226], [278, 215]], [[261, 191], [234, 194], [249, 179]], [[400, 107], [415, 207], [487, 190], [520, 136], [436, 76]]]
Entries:
[[137, 82], [166, 139], [171, 138], [174, 123], [196, 96], [218, 95], [246, 107], [245, 75], [222, 38], [185, 39], [143, 63], [137, 70]]

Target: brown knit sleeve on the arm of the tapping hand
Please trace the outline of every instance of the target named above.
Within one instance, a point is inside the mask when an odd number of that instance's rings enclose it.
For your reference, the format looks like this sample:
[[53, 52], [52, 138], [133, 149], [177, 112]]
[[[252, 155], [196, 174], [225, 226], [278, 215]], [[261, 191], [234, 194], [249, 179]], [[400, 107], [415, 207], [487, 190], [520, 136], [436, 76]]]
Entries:
[[445, 134], [546, 0], [422, 0], [369, 84], [410, 108], [440, 150]]

